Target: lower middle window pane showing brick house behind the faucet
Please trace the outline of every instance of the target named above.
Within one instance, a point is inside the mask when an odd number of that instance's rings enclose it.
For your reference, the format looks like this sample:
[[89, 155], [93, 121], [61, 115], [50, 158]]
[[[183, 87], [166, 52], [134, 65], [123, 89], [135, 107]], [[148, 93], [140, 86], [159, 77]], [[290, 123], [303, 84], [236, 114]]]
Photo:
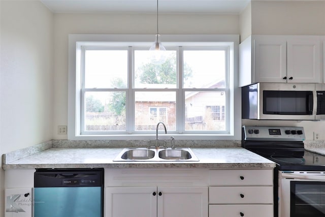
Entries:
[[167, 130], [176, 130], [176, 92], [135, 92], [135, 130], [156, 130], [163, 121]]

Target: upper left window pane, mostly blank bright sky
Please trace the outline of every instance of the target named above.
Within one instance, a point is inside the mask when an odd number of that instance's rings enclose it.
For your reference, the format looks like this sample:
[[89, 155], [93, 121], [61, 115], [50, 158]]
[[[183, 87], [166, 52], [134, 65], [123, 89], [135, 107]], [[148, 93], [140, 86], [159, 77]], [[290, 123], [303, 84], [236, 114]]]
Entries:
[[86, 50], [85, 88], [127, 87], [127, 50]]

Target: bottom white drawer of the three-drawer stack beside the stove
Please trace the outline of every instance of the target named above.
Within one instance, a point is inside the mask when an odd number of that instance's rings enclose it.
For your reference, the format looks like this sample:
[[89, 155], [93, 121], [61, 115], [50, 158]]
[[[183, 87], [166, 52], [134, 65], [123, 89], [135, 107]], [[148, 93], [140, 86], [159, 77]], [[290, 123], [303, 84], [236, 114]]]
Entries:
[[273, 205], [209, 205], [209, 217], [273, 217]]

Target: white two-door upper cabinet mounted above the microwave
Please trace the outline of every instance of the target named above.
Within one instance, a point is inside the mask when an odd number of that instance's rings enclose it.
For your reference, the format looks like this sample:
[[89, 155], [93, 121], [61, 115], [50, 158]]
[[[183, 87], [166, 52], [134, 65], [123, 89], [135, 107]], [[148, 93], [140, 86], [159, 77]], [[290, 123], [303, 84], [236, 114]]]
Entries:
[[252, 36], [239, 46], [240, 86], [321, 83], [320, 37]]

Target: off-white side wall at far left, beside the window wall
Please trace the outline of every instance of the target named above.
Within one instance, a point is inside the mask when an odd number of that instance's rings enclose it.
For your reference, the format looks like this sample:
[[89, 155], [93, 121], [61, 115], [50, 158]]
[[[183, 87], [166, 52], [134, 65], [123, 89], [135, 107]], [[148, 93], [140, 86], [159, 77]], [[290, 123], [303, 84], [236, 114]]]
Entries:
[[[52, 139], [53, 14], [39, 1], [1, 0], [0, 4], [3, 154]], [[1, 170], [0, 216], [4, 215], [3, 176]]]

